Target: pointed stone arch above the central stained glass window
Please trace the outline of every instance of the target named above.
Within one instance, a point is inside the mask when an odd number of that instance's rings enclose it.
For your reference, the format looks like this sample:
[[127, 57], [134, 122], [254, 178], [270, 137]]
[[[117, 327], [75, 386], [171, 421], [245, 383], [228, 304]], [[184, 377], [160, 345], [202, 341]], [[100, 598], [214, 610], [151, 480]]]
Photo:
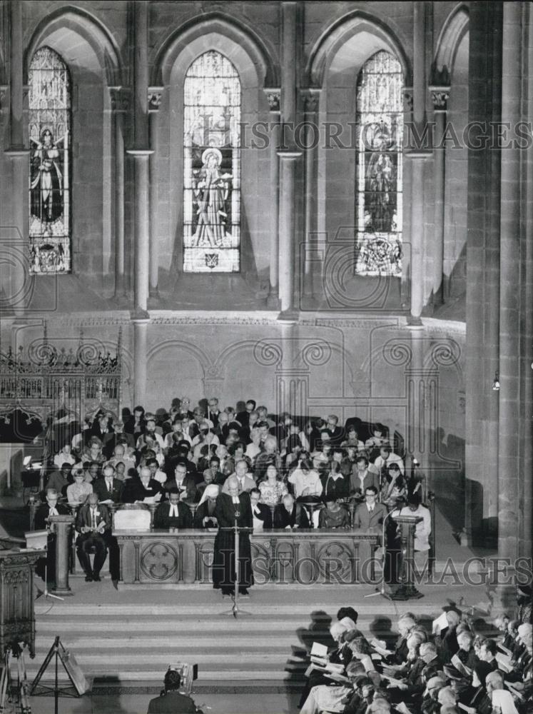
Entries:
[[[206, 39], [206, 36], [212, 35], [227, 38], [235, 47], [235, 53], [238, 53], [238, 50], [244, 51], [253, 62], [255, 74], [259, 81], [263, 81], [263, 86], [280, 85], [280, 67], [279, 62], [273, 59], [274, 51], [268, 49], [252, 29], [220, 12], [207, 13], [202, 15], [201, 19], [194, 19], [171, 31], [163, 40], [153, 61], [152, 84], [154, 86], [168, 84], [178, 57], [180, 60], [183, 58], [183, 64], [189, 66], [196, 56], [201, 54], [198, 50], [191, 51], [191, 44], [198, 46], [200, 41], [201, 45], [202, 38]], [[212, 49], [208, 43], [204, 44], [205, 49], [202, 51]], [[230, 54], [228, 59], [235, 61]], [[235, 62], [235, 65], [238, 64]], [[245, 77], [241, 76], [241, 79]]]

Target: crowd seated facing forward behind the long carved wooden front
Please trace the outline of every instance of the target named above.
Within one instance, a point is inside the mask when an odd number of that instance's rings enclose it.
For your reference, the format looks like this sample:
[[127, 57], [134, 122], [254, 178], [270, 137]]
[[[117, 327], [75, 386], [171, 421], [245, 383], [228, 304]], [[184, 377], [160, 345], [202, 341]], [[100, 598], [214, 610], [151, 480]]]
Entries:
[[240, 409], [220, 410], [215, 398], [189, 406], [186, 398], [174, 399], [168, 412], [137, 406], [121, 420], [98, 411], [83, 428], [62, 423], [54, 432], [36, 527], [58, 509], [75, 513], [87, 580], [100, 579], [117, 508], [149, 504], [156, 529], [216, 528], [217, 499], [232, 476], [239, 493], [250, 495], [255, 532], [380, 528], [388, 512], [405, 507], [423, 518], [415, 550], [427, 558], [431, 520], [420, 503], [422, 482], [407, 475], [385, 426], [349, 418], [342, 428], [335, 415], [272, 416], [251, 399]]

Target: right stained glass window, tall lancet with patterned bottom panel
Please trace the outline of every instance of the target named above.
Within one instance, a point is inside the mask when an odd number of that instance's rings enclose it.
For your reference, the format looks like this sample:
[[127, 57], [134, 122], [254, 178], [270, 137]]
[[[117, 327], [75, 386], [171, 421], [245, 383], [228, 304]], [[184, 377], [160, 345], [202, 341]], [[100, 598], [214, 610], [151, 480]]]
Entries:
[[402, 108], [400, 62], [377, 52], [357, 79], [358, 275], [402, 274]]

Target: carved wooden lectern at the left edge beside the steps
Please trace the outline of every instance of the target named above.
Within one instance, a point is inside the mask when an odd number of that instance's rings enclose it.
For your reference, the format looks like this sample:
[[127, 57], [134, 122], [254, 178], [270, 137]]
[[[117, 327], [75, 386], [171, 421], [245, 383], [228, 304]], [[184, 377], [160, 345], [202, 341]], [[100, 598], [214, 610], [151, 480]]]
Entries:
[[45, 550], [0, 550], [0, 652], [19, 643], [35, 657], [34, 568]]

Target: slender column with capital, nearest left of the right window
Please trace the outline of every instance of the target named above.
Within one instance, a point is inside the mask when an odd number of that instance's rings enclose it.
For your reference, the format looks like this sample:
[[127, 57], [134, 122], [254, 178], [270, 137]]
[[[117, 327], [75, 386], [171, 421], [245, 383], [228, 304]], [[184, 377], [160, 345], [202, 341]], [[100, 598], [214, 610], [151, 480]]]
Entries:
[[306, 306], [315, 302], [315, 253], [317, 234], [317, 192], [318, 192], [318, 102], [320, 89], [304, 89], [303, 103], [305, 116], [305, 260], [303, 266], [303, 296]]

